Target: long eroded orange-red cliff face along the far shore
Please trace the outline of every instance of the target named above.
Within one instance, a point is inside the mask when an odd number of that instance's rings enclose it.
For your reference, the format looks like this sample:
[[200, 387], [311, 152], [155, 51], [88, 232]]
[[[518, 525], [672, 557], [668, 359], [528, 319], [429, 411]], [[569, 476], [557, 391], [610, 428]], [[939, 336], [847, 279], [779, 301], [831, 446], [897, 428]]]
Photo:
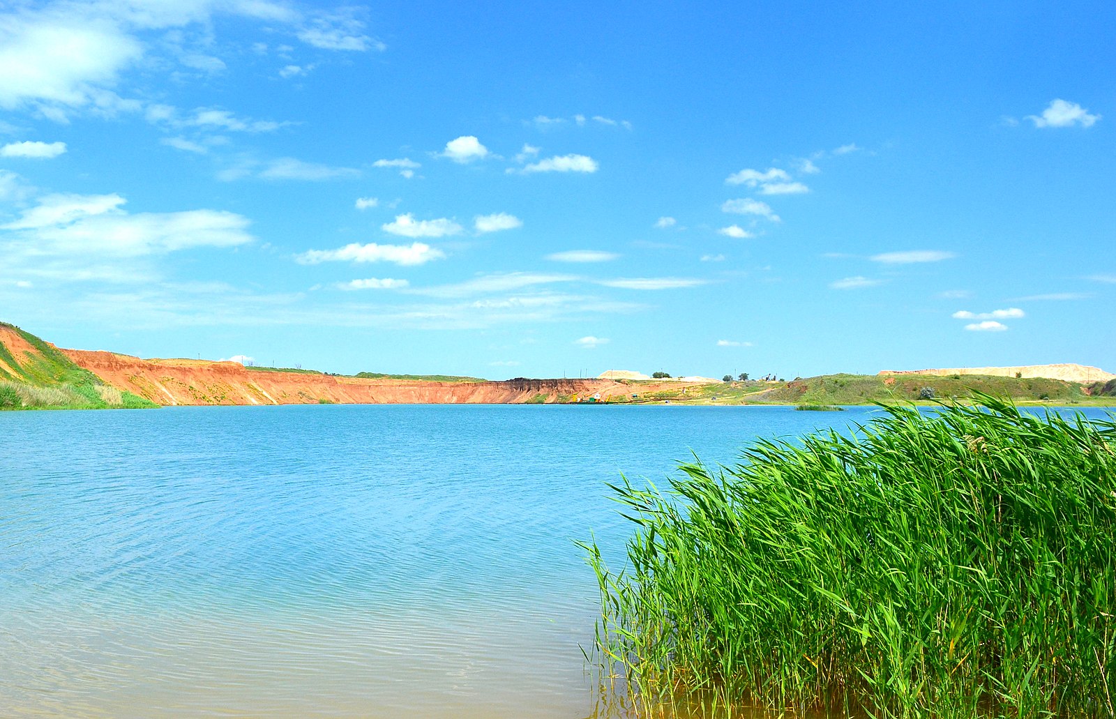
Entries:
[[[250, 370], [235, 362], [141, 360], [110, 352], [64, 349], [106, 383], [164, 405], [176, 404], [518, 404], [626, 395], [610, 380], [426, 382]], [[674, 389], [676, 385], [673, 385]], [[635, 392], [654, 391], [641, 386]]]

